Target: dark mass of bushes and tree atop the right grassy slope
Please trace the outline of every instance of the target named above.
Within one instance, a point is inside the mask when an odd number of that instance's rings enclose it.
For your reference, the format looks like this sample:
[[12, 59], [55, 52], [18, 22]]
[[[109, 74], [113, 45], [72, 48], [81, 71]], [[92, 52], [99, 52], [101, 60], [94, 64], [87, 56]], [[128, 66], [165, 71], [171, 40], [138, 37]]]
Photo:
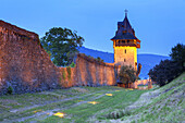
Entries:
[[161, 61], [148, 73], [151, 79], [157, 82], [160, 86], [164, 86], [170, 83], [184, 71], [183, 64], [185, 62], [185, 46], [177, 44], [174, 48], [172, 48], [170, 56], [172, 60]]

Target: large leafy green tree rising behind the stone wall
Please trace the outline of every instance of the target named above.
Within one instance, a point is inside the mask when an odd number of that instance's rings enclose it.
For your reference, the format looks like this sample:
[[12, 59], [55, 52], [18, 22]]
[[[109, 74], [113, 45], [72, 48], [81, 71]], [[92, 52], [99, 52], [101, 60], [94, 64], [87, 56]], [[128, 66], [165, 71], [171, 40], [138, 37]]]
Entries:
[[82, 47], [84, 38], [69, 28], [53, 27], [40, 39], [42, 47], [50, 53], [58, 66], [70, 65]]

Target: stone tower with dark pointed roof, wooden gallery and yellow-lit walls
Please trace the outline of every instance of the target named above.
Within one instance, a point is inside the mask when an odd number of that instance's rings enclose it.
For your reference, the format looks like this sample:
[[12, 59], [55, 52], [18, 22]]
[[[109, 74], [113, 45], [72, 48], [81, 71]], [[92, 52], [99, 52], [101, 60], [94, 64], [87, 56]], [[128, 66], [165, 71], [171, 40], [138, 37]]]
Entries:
[[118, 22], [118, 30], [111, 39], [114, 49], [114, 63], [116, 65], [132, 65], [137, 70], [137, 48], [140, 48], [140, 40], [135, 36], [125, 10], [125, 19]]

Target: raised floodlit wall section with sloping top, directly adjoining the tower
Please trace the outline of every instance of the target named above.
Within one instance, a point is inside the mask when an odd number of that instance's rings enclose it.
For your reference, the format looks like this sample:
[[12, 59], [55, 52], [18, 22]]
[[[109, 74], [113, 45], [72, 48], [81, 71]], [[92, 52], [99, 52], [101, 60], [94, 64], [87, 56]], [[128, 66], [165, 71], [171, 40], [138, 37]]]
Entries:
[[98, 62], [92, 58], [78, 54], [74, 67], [74, 82], [77, 85], [100, 86], [115, 85], [116, 67], [114, 64]]

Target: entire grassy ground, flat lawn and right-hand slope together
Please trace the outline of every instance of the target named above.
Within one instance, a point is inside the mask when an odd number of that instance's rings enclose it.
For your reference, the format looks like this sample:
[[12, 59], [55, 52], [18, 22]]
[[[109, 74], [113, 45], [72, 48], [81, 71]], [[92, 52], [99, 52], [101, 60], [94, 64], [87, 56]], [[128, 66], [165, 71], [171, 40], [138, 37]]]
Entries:
[[185, 121], [185, 73], [150, 90], [72, 87], [0, 97], [0, 123], [163, 123]]

